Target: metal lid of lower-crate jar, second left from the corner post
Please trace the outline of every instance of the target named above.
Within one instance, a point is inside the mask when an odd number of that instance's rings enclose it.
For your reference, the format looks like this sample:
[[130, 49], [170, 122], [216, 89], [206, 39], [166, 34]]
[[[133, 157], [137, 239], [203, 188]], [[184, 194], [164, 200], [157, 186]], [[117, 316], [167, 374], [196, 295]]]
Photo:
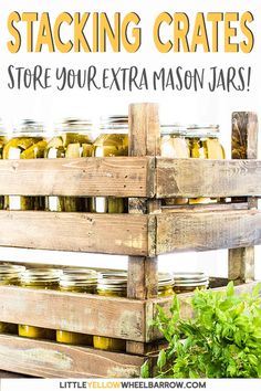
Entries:
[[60, 285], [63, 287], [96, 287], [97, 273], [93, 270], [67, 268], [60, 276]]

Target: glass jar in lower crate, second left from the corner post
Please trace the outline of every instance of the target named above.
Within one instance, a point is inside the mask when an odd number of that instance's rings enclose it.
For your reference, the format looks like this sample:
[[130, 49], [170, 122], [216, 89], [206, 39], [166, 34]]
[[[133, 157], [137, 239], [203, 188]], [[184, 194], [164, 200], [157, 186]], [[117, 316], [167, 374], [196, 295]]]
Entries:
[[[60, 276], [62, 292], [95, 294], [97, 288], [97, 273], [92, 270], [67, 268]], [[65, 330], [56, 330], [56, 341], [69, 345], [93, 346], [93, 336]]]

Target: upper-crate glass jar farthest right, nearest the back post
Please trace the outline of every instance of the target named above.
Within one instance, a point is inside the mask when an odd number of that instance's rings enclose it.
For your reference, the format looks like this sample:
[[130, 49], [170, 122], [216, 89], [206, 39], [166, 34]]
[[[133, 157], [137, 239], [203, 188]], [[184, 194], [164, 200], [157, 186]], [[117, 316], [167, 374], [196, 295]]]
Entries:
[[[195, 159], [226, 159], [225, 149], [219, 140], [219, 125], [190, 125], [187, 137], [190, 147], [190, 157]], [[217, 199], [196, 198], [189, 203], [210, 203]]]

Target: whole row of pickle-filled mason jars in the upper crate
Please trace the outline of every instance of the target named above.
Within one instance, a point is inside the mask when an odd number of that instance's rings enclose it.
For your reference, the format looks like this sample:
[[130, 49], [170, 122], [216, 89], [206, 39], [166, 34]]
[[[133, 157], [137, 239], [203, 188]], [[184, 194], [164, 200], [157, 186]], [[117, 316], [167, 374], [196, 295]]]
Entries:
[[[216, 125], [182, 127], [161, 125], [161, 156], [168, 158], [223, 159], [225, 150]], [[128, 118], [111, 116], [101, 119], [98, 133], [88, 120], [67, 119], [49, 135], [33, 120], [24, 120], [8, 137], [0, 125], [0, 159], [80, 158], [128, 155]], [[200, 203], [207, 199], [171, 199], [167, 204]], [[209, 200], [207, 200], [208, 202]], [[20, 197], [0, 196], [0, 209], [90, 211], [123, 213], [127, 203], [114, 198]]]

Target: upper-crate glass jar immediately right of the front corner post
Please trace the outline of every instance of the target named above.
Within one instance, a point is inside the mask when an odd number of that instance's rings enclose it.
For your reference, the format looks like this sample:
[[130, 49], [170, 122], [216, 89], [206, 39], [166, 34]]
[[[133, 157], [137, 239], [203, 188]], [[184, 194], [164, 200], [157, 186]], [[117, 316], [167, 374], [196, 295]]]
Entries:
[[[189, 141], [186, 138], [186, 127], [178, 124], [160, 126], [160, 152], [164, 158], [190, 158]], [[180, 205], [188, 203], [187, 198], [165, 199], [166, 205]]]

